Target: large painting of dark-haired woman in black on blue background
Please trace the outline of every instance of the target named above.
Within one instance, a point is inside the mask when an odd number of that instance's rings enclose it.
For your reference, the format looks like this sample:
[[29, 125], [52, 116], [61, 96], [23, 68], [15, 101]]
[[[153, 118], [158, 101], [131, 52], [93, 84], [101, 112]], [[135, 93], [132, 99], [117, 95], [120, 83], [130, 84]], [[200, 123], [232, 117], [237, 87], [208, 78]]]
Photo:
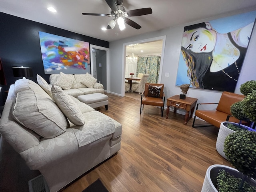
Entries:
[[185, 26], [176, 86], [234, 92], [256, 11]]

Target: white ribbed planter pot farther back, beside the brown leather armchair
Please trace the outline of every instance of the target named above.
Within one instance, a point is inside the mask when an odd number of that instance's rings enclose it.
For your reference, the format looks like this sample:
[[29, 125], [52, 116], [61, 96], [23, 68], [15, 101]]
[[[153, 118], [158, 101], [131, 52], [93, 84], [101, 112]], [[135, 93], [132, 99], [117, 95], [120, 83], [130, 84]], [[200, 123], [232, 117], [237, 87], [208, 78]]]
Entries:
[[[236, 124], [238, 125], [238, 123], [234, 123], [234, 122], [228, 122], [228, 121], [224, 121], [224, 122], [221, 122], [220, 124], [220, 130], [219, 130], [219, 133], [218, 133], [218, 137], [217, 137], [217, 140], [216, 140], [216, 150], [218, 151], [218, 153], [224, 157], [225, 159], [227, 159], [225, 153], [223, 152], [224, 150], [224, 141], [225, 141], [225, 138], [226, 136], [228, 136], [229, 134], [231, 133], [234, 133], [235, 131], [227, 128], [225, 126], [225, 124], [227, 123], [232, 123], [232, 124]], [[240, 125], [248, 130], [253, 130], [252, 128], [248, 127], [248, 126], [245, 126], [245, 125]]]

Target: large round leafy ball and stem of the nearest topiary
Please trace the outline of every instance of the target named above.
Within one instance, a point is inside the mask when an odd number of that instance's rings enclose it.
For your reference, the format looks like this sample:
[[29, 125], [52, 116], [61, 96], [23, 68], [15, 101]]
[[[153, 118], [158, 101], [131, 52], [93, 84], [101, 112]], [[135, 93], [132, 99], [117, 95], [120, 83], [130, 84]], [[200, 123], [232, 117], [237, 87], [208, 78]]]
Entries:
[[243, 130], [228, 135], [224, 142], [224, 152], [228, 161], [243, 173], [240, 190], [247, 176], [256, 179], [256, 132]]

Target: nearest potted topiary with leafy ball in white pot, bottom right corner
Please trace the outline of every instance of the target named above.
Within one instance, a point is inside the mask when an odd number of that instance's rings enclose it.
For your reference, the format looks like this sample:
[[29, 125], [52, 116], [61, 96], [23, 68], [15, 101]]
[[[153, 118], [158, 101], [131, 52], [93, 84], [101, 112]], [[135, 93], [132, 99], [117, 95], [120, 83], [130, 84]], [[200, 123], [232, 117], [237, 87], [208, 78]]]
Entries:
[[224, 151], [236, 169], [224, 165], [210, 166], [202, 192], [255, 192], [256, 132], [242, 130], [229, 134]]

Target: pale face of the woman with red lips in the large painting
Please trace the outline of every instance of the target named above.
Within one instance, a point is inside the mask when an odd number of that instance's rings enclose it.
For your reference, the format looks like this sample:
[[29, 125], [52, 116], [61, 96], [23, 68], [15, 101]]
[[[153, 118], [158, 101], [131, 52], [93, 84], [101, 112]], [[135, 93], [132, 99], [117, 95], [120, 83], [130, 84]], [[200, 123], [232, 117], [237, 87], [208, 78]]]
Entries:
[[197, 28], [183, 33], [182, 47], [195, 53], [211, 52], [216, 44], [216, 33], [206, 28]]

